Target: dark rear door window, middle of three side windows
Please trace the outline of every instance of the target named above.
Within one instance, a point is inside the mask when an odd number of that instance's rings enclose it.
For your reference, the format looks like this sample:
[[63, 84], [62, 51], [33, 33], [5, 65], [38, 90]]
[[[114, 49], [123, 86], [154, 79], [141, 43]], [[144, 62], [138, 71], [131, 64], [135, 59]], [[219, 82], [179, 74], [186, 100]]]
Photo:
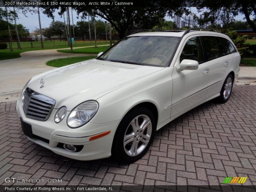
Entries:
[[202, 36], [202, 40], [208, 60], [222, 55], [214, 36]]

